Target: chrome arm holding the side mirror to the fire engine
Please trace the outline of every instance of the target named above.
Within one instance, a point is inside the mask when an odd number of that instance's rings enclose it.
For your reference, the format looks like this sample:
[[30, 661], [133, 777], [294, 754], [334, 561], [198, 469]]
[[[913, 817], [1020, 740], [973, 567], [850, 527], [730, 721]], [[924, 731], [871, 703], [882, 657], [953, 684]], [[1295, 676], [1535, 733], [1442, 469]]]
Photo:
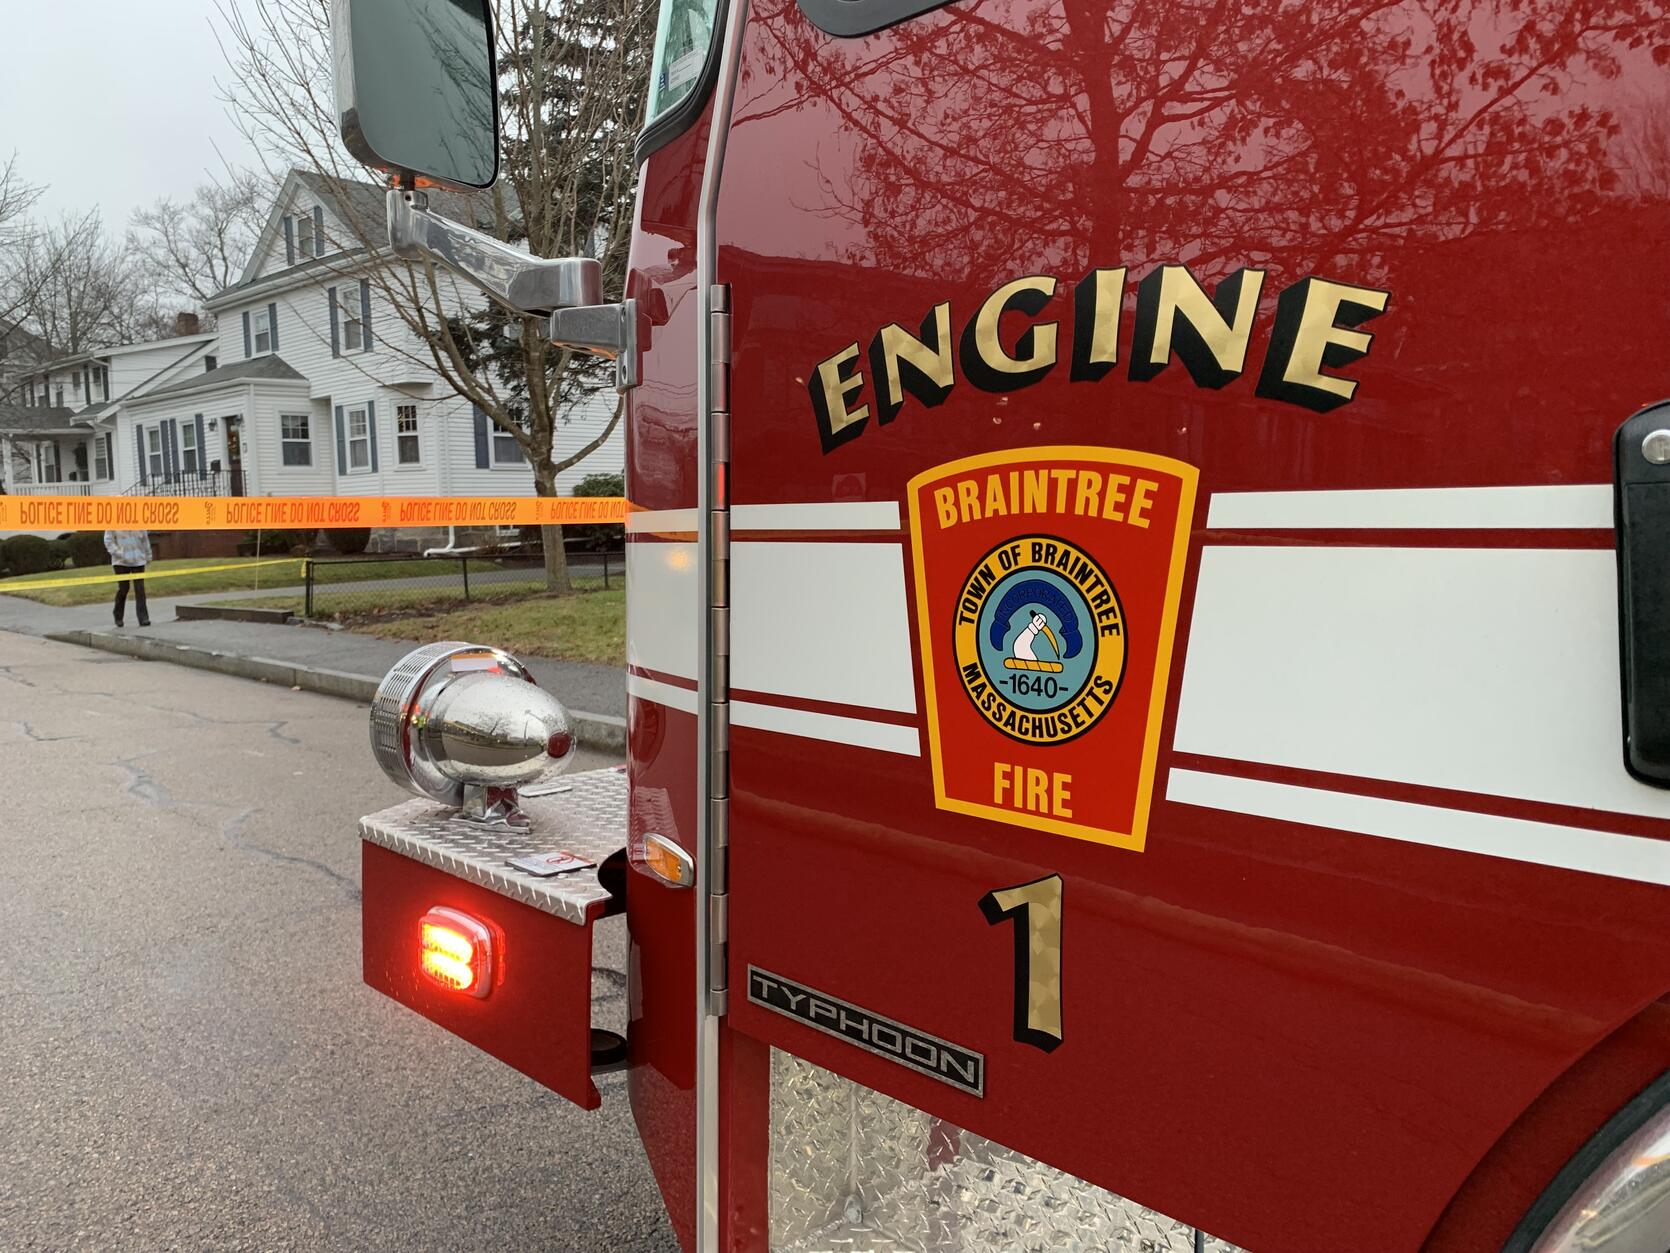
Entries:
[[481, 287], [511, 312], [549, 316], [559, 347], [615, 359], [615, 386], [638, 384], [638, 302], [603, 302], [603, 266], [593, 257], [534, 257], [429, 211], [419, 190], [391, 190], [389, 247], [433, 261]]

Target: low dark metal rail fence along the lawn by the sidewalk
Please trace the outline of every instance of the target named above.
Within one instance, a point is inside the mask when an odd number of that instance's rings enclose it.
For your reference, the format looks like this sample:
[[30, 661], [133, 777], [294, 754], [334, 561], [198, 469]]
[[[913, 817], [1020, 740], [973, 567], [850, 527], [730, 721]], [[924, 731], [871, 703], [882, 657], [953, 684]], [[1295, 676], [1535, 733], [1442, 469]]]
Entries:
[[[571, 550], [568, 575], [579, 588], [620, 588], [625, 586], [626, 558], [620, 550]], [[539, 548], [321, 556], [306, 565], [302, 616], [421, 613], [536, 596], [544, 590], [544, 553]]]

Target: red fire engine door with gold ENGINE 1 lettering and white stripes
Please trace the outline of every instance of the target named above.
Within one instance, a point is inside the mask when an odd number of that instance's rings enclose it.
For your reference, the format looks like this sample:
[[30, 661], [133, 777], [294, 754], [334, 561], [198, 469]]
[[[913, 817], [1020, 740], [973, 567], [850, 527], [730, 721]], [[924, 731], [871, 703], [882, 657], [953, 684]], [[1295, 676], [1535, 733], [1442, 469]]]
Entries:
[[755, 3], [723, 145], [731, 1205], [1416, 1248], [1670, 987], [1633, 10], [918, 10]]

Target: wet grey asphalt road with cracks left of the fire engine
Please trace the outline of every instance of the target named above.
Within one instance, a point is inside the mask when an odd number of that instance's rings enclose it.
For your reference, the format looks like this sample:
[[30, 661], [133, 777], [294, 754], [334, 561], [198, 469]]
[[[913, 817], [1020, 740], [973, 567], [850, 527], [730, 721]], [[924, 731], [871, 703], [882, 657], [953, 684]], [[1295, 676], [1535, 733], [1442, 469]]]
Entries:
[[[583, 1113], [361, 984], [402, 797], [357, 705], [0, 632], [0, 1248], [676, 1248], [621, 1076]], [[610, 1026], [623, 971], [613, 919]]]

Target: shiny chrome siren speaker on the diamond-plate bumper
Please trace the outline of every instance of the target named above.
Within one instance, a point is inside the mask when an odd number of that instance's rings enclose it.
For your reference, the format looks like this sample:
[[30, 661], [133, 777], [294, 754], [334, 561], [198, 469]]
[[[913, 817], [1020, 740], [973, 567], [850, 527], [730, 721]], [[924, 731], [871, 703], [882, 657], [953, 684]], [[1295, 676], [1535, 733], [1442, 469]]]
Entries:
[[568, 710], [506, 652], [446, 640], [406, 653], [371, 702], [371, 750], [396, 784], [478, 822], [526, 825], [516, 789], [574, 757]]

